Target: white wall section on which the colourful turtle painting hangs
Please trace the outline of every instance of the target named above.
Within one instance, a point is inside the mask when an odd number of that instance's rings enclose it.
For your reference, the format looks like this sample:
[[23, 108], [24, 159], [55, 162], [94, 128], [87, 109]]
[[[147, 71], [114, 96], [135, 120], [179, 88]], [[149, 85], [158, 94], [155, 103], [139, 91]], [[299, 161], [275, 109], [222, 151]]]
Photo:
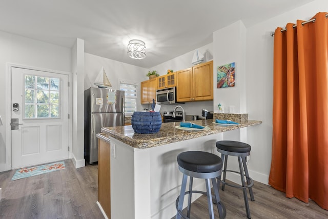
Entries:
[[[217, 105], [219, 103], [224, 108], [224, 112], [228, 112], [229, 106], [234, 106], [235, 113], [247, 112], [245, 105], [245, 37], [246, 28], [241, 21], [217, 30], [213, 34], [214, 112], [218, 113]], [[230, 63], [235, 63], [235, 86], [229, 88], [217, 88], [218, 66]]]

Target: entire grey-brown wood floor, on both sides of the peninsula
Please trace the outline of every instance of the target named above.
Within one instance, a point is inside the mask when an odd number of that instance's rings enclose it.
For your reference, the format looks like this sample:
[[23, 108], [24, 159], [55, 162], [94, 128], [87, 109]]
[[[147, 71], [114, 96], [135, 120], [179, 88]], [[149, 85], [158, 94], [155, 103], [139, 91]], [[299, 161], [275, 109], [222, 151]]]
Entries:
[[[65, 165], [64, 170], [16, 181], [11, 181], [15, 170], [1, 172], [0, 218], [104, 218], [96, 204], [98, 166], [75, 169], [71, 160], [65, 160]], [[253, 219], [328, 218], [328, 211], [313, 201], [305, 204], [296, 198], [286, 198], [268, 185], [255, 182], [253, 192], [255, 202], [249, 201]], [[220, 197], [227, 208], [227, 219], [247, 218], [240, 189], [226, 186], [224, 191], [220, 190]], [[218, 218], [217, 210], [215, 216]], [[206, 196], [192, 204], [192, 218], [209, 218]]]

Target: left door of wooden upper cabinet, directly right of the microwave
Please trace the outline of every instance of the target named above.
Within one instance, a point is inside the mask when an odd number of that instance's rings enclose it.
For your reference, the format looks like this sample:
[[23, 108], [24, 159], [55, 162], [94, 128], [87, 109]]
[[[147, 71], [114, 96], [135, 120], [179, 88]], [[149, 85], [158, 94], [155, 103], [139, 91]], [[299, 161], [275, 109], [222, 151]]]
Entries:
[[180, 70], [176, 72], [177, 78], [177, 101], [178, 102], [190, 102], [193, 101], [193, 84], [192, 68]]

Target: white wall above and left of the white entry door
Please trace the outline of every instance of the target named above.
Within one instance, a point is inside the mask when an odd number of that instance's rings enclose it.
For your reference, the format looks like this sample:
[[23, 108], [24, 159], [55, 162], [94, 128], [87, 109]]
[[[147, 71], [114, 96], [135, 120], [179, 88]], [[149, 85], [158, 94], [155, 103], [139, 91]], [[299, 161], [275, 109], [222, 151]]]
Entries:
[[0, 171], [5, 171], [11, 168], [11, 98], [6, 63], [70, 72], [71, 50], [2, 31], [0, 48], [0, 115], [4, 123], [0, 126]]

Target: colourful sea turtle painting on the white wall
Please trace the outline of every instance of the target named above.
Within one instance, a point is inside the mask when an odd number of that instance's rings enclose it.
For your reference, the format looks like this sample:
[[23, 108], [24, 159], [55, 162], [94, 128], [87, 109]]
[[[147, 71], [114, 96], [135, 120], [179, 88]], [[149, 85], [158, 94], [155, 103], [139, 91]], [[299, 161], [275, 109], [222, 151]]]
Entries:
[[235, 63], [217, 67], [217, 88], [235, 86]]

